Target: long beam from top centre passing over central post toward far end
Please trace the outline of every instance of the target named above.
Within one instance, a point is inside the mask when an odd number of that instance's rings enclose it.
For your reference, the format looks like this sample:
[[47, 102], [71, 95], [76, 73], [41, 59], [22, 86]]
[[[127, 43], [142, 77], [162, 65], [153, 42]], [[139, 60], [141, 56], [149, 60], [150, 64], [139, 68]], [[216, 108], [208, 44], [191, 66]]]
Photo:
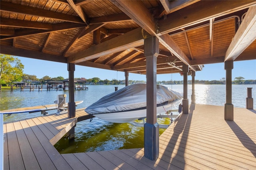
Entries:
[[172, 38], [168, 34], [160, 36], [161, 34], [159, 34], [159, 30], [156, 29], [156, 22], [154, 18], [141, 1], [134, 2], [118, 0], [114, 1], [114, 4], [150, 35], [156, 36], [159, 39], [159, 42], [162, 43], [162, 45], [164, 45], [170, 52], [176, 55], [182, 62], [189, 65], [188, 57], [183, 53], [178, 45], [176, 45]]

